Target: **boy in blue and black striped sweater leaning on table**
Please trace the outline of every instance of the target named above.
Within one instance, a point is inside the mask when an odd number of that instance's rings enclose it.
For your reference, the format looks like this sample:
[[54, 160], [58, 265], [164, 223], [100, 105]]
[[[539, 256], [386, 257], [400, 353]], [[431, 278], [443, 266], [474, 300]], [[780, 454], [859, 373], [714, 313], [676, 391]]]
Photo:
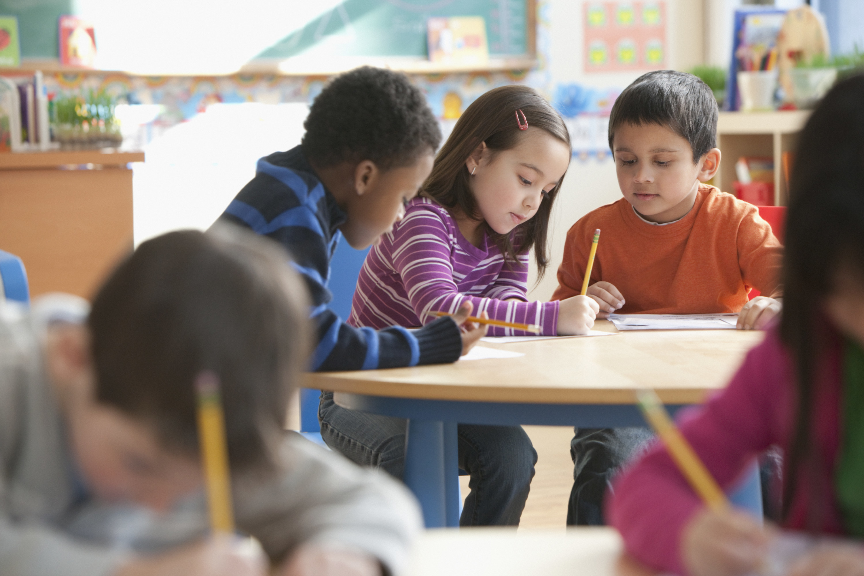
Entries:
[[[370, 87], [374, 90], [370, 90]], [[352, 94], [347, 102], [346, 93]], [[454, 362], [484, 329], [442, 318], [419, 330], [347, 325], [327, 308], [330, 258], [340, 238], [362, 249], [402, 218], [441, 142], [422, 93], [402, 74], [369, 66], [315, 98], [302, 144], [257, 163], [220, 217], [282, 244], [309, 288], [318, 345], [313, 370], [371, 370]], [[463, 333], [464, 332], [464, 333]]]

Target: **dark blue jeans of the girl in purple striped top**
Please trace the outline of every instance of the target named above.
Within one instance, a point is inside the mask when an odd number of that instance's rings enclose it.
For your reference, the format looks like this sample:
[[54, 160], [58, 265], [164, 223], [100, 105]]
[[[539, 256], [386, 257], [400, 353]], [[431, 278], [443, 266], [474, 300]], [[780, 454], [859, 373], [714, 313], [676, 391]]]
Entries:
[[[349, 410], [321, 393], [321, 438], [359, 465], [402, 479], [405, 427], [402, 418]], [[528, 498], [537, 453], [522, 427], [459, 424], [459, 467], [471, 476], [461, 526], [518, 526]]]

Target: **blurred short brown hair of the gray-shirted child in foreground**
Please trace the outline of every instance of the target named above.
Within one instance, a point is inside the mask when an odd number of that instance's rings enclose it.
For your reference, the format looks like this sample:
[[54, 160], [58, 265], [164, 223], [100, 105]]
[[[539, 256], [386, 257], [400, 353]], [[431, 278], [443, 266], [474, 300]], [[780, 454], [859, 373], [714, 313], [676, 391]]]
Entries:
[[232, 469], [270, 470], [306, 368], [308, 304], [288, 256], [228, 225], [170, 232], [111, 273], [88, 320], [96, 398], [197, 456], [195, 381], [219, 378]]

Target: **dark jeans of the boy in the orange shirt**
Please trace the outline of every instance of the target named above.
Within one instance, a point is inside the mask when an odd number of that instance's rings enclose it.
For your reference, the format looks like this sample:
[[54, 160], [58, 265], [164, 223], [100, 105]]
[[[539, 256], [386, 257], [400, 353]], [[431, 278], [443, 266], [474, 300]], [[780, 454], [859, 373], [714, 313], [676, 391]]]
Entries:
[[651, 443], [648, 428], [579, 428], [570, 440], [573, 489], [567, 506], [568, 526], [600, 526], [603, 497], [621, 465], [638, 457]]

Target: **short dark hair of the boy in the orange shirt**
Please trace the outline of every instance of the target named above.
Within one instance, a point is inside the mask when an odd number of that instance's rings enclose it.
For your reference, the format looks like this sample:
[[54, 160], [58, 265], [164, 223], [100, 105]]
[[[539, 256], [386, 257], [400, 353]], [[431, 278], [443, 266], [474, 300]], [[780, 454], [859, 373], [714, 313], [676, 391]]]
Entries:
[[714, 92], [693, 74], [658, 70], [642, 74], [621, 92], [609, 115], [609, 149], [615, 129], [628, 123], [659, 124], [689, 142], [696, 163], [717, 145]]

